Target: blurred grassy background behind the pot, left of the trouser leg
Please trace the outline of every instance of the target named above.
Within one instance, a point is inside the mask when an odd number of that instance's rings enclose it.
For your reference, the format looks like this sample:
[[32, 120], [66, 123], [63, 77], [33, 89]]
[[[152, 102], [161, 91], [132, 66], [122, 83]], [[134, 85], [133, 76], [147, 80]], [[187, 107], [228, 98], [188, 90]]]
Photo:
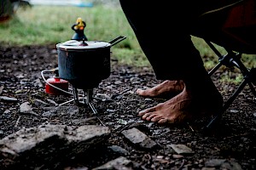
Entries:
[[86, 23], [88, 40], [109, 42], [124, 36], [125, 41], [112, 48], [119, 61], [148, 65], [119, 0], [1, 0], [0, 42], [9, 46], [66, 42], [79, 17]]

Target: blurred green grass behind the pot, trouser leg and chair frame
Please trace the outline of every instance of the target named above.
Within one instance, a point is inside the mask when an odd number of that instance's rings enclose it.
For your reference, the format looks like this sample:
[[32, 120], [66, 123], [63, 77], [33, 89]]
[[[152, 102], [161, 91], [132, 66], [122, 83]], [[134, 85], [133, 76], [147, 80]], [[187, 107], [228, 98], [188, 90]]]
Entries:
[[[119, 59], [120, 63], [149, 65], [121, 8], [107, 8], [100, 5], [93, 8], [66, 6], [20, 8], [12, 20], [0, 24], [0, 42], [19, 46], [66, 42], [73, 36], [74, 31], [71, 26], [78, 17], [86, 22], [84, 33], [89, 40], [108, 42], [115, 37], [126, 37], [124, 41], [112, 47], [113, 57]], [[192, 40], [201, 52], [207, 69], [218, 63], [218, 57], [211, 48], [207, 47], [206, 42], [198, 37], [192, 37]], [[170, 45], [172, 45], [171, 40]], [[243, 58], [249, 67], [256, 66], [255, 55], [253, 57], [245, 55]]]

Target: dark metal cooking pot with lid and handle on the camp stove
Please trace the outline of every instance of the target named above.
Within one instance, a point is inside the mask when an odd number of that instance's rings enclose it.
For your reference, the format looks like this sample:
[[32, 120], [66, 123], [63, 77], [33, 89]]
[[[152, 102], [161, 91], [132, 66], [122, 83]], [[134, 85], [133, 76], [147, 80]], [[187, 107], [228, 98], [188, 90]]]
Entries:
[[110, 48], [126, 37], [110, 42], [70, 40], [56, 44], [59, 77], [74, 88], [92, 89], [110, 76]]

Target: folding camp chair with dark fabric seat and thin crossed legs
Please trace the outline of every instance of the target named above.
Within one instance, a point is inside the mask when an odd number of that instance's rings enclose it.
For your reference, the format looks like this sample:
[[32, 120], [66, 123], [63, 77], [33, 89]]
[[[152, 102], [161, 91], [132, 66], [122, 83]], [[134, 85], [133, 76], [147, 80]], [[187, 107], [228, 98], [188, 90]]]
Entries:
[[[238, 68], [243, 76], [243, 81], [236, 88], [230, 98], [224, 101], [222, 111], [207, 123], [205, 129], [212, 127], [213, 122], [226, 111], [237, 95], [241, 93], [246, 85], [249, 86], [256, 98], [254, 86], [256, 85], [256, 68], [247, 68], [241, 61], [241, 54], [256, 54], [256, 1], [241, 0], [223, 8], [208, 11], [196, 20], [195, 30], [192, 35], [204, 39], [208, 46], [218, 56], [216, 65], [209, 75], [218, 70], [222, 65], [230, 68]], [[213, 44], [223, 47], [227, 54], [220, 54]]]

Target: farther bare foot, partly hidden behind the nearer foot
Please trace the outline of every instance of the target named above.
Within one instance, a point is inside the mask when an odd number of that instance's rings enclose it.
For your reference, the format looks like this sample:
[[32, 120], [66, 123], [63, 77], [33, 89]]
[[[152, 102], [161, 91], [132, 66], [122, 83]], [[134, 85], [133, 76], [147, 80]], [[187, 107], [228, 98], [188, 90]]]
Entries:
[[173, 94], [178, 94], [183, 91], [183, 81], [170, 81], [166, 80], [161, 82], [154, 88], [148, 88], [146, 90], [137, 89], [137, 94], [145, 98], [170, 98]]

